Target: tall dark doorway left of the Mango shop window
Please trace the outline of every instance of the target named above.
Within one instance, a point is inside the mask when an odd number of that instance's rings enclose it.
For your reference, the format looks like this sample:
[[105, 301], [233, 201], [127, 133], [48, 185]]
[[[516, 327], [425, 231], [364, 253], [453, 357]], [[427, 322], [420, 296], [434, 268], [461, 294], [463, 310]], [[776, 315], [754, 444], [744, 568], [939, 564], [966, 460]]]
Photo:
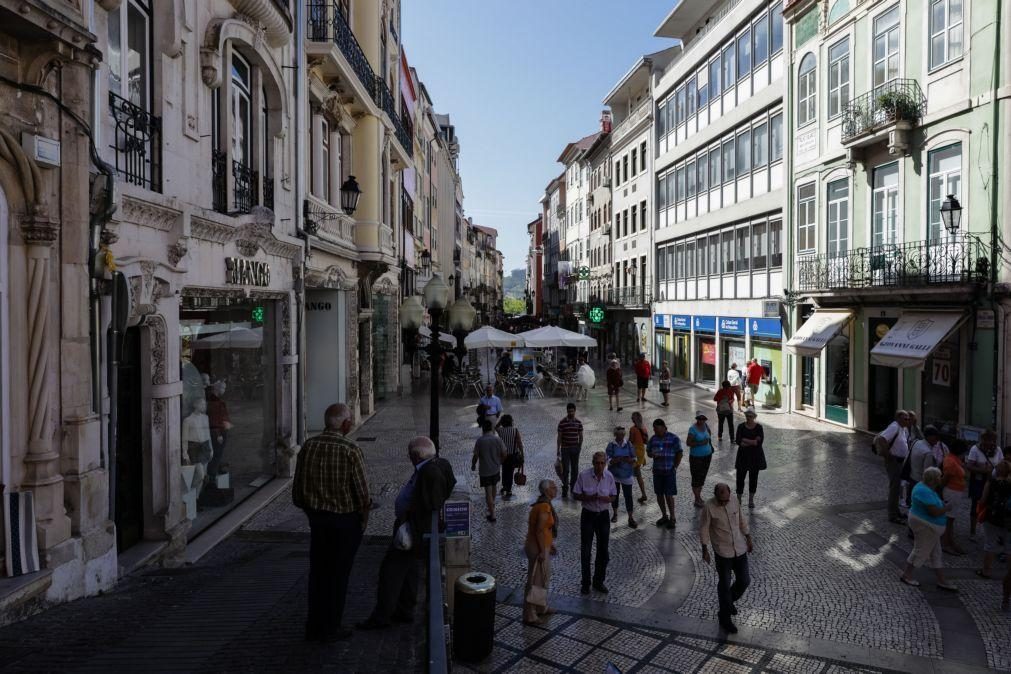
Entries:
[[122, 353], [116, 372], [115, 522], [116, 548], [122, 553], [144, 538], [144, 400], [141, 390], [141, 328], [130, 327], [121, 336]]

